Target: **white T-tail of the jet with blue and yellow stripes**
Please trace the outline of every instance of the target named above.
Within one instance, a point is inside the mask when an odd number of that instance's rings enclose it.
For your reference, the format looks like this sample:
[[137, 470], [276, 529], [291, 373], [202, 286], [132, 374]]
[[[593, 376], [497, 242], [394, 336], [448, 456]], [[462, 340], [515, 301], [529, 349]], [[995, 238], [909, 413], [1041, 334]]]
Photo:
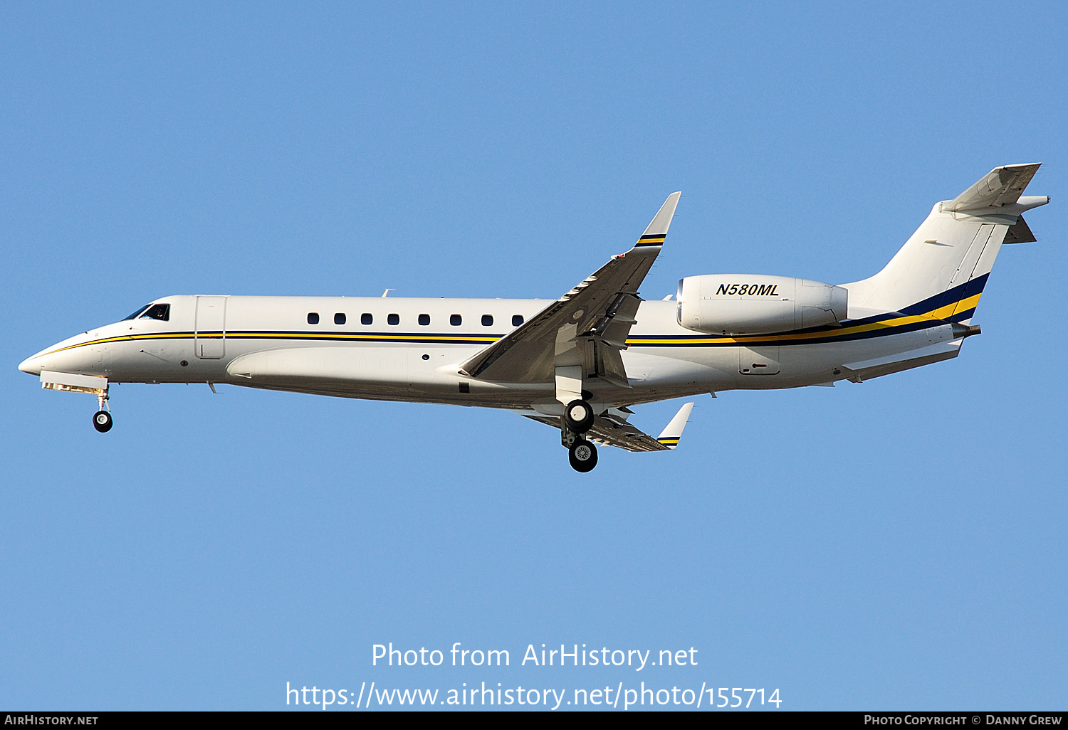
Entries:
[[968, 326], [1002, 244], [1035, 240], [1023, 213], [1050, 199], [1021, 194], [1039, 164], [995, 168], [952, 201], [936, 203], [882, 271], [843, 284], [850, 318], [896, 312]]

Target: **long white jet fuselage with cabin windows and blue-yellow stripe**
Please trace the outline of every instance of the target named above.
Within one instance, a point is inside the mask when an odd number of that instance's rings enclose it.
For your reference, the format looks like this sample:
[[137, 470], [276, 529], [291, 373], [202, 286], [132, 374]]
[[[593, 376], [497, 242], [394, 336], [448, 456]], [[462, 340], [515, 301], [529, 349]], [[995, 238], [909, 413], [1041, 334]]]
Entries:
[[[175, 296], [154, 302], [164, 303], [167, 320], [106, 324], [58, 343], [20, 367], [101, 376], [112, 383], [231, 383], [500, 408], [529, 408], [539, 394], [546, 403], [554, 400], [551, 383], [494, 383], [459, 372], [460, 363], [551, 300]], [[893, 361], [916, 350], [946, 359], [960, 344], [944, 320], [918, 329], [884, 326], [877, 328], [879, 336], [851, 337], [847, 321], [841, 328], [731, 337], [687, 330], [676, 311], [674, 301], [641, 303], [623, 352], [631, 387], [591, 379], [592, 402], [826, 384], [853, 376], [843, 368], [849, 363]]]

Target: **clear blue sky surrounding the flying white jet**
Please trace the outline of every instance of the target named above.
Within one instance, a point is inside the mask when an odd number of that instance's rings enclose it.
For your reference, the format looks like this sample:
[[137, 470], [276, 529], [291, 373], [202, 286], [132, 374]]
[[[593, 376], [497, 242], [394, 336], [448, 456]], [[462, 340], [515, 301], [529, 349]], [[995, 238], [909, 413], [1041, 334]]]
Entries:
[[[0, 6], [0, 707], [285, 708], [285, 683], [1068, 700], [1062, 3]], [[579, 475], [503, 412], [20, 360], [170, 293], [556, 297], [684, 197], [642, 292], [878, 270], [1043, 162], [962, 356], [697, 400]], [[656, 431], [678, 403], [641, 407]], [[506, 649], [382, 668], [372, 645]], [[529, 644], [695, 667], [517, 666]]]

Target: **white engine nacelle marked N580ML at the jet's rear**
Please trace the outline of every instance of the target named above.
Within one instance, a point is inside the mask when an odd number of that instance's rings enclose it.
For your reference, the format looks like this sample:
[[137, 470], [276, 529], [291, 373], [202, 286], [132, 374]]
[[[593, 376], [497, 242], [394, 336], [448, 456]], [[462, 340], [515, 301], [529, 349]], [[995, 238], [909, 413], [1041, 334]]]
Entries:
[[754, 274], [687, 276], [678, 283], [678, 323], [708, 334], [767, 334], [835, 324], [849, 291], [807, 279]]

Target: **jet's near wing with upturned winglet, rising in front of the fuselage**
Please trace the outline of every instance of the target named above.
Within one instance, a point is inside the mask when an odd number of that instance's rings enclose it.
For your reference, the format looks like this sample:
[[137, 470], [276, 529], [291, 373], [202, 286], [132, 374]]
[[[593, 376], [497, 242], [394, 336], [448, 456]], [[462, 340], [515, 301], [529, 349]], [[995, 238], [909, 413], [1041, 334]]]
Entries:
[[460, 368], [472, 378], [512, 383], [551, 381], [556, 365], [581, 365], [585, 378], [629, 387], [619, 352], [642, 301], [638, 287], [663, 245], [675, 206], [672, 193], [634, 247], [587, 276], [518, 329]]

